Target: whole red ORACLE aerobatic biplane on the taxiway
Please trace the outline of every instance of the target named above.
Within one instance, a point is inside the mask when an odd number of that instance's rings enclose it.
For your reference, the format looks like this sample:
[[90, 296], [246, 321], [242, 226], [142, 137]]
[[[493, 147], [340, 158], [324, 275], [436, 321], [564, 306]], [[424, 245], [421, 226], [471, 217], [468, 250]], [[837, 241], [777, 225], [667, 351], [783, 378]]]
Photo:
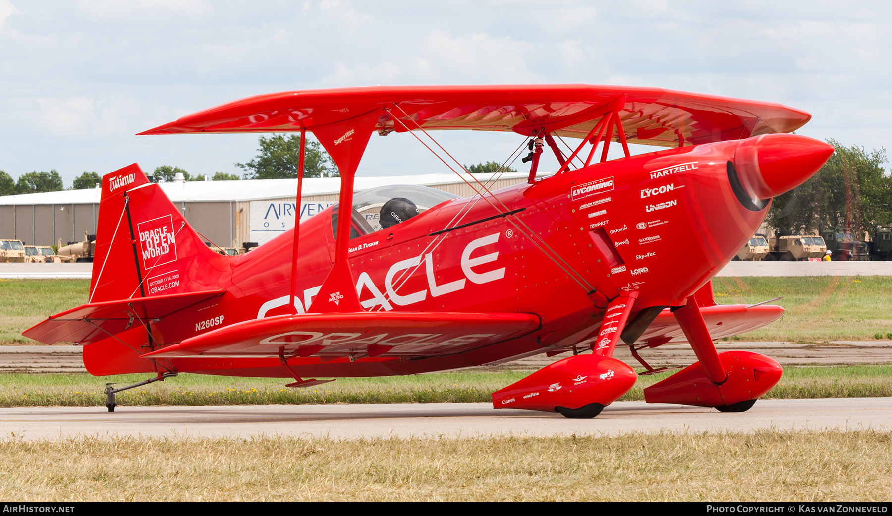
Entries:
[[[597, 415], [634, 384], [634, 370], [611, 356], [620, 341], [645, 372], [653, 368], [639, 352], [687, 341], [698, 362], [646, 388], [647, 401], [742, 412], [777, 383], [780, 365], [718, 354], [713, 341], [783, 309], [715, 304], [710, 279], [772, 197], [832, 154], [789, 134], [809, 118], [779, 104], [585, 85], [358, 87], [219, 105], [140, 134], [311, 131], [341, 172], [339, 203], [251, 253], [223, 256], [138, 165], [111, 172], [89, 302], [23, 335], [85, 345], [94, 375], [293, 378], [289, 387], [573, 351], [492, 395], [495, 408], [571, 418]], [[354, 195], [372, 133], [409, 133], [450, 165], [429, 134], [450, 129], [517, 133], [529, 181], [491, 191], [458, 171], [475, 196]], [[558, 145], [566, 137], [575, 148]], [[608, 161], [612, 142], [624, 157]], [[631, 155], [628, 142], [668, 148]], [[541, 178], [549, 151], [559, 169]], [[380, 218], [372, 226], [360, 212]], [[698, 239], [681, 254], [677, 242], [690, 235]], [[118, 390], [106, 390], [110, 411]]]

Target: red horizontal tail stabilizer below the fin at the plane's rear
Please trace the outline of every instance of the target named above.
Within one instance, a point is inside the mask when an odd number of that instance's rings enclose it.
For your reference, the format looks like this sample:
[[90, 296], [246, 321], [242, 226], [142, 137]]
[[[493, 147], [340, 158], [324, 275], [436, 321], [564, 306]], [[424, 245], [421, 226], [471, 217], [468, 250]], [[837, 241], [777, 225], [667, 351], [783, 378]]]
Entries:
[[187, 306], [224, 293], [226, 289], [221, 288], [83, 304], [69, 311], [51, 315], [47, 320], [22, 332], [22, 335], [44, 344], [57, 342], [90, 344], [117, 335], [133, 327], [134, 324], [140, 325], [142, 322], [161, 319]]

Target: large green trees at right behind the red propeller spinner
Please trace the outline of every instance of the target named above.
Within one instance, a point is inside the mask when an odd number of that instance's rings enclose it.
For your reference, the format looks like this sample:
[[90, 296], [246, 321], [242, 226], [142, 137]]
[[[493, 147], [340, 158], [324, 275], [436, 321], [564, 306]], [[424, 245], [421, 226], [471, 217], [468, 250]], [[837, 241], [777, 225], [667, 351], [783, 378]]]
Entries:
[[842, 226], [863, 237], [865, 231], [873, 232], [874, 224], [892, 224], [892, 178], [881, 166], [886, 149], [868, 153], [863, 147], [827, 142], [836, 149], [830, 159], [811, 179], [775, 197], [769, 225], [794, 233]]

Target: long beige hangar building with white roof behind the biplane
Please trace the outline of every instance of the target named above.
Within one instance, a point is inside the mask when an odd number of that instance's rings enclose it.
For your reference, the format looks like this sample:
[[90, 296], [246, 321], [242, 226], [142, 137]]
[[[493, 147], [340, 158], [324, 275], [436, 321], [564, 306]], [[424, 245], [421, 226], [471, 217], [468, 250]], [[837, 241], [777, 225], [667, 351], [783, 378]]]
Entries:
[[[487, 181], [498, 175], [491, 185]], [[490, 190], [526, 181], [526, 172], [475, 174]], [[540, 178], [542, 174], [540, 174]], [[188, 181], [161, 183], [161, 189], [178, 206], [186, 221], [220, 247], [233, 241], [260, 244], [294, 225], [297, 179], [239, 181]], [[355, 191], [389, 185], [438, 188], [469, 197], [474, 190], [455, 174], [426, 174], [355, 179]], [[301, 220], [335, 204], [341, 179], [304, 179]], [[0, 238], [28, 245], [53, 246], [79, 242], [94, 234], [99, 216], [99, 189], [62, 190], [43, 194], [0, 196]]]

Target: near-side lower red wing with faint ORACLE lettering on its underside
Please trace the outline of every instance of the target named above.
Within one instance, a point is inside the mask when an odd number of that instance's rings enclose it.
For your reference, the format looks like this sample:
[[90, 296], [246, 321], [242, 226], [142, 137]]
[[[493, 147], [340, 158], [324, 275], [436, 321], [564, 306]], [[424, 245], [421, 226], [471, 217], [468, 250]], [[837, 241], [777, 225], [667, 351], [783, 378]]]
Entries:
[[495, 344], [540, 326], [530, 313], [305, 313], [244, 320], [144, 356], [420, 357]]

